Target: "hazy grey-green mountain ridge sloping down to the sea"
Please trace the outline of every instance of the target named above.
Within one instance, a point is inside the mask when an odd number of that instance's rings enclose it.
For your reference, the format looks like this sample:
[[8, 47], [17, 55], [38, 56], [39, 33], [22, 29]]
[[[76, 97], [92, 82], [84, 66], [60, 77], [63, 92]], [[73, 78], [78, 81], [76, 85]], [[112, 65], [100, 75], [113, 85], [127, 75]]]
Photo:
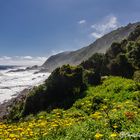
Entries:
[[132, 31], [134, 31], [137, 25], [140, 25], [140, 22], [133, 24], [129, 23], [127, 26], [120, 27], [104, 35], [87, 47], [81, 48], [76, 51], [62, 52], [53, 55], [46, 60], [42, 67], [47, 69], [48, 71], [52, 71], [64, 64], [80, 64], [82, 61], [90, 58], [94, 53], [105, 53], [113, 42], [120, 42], [121, 40], [127, 38], [128, 35]]

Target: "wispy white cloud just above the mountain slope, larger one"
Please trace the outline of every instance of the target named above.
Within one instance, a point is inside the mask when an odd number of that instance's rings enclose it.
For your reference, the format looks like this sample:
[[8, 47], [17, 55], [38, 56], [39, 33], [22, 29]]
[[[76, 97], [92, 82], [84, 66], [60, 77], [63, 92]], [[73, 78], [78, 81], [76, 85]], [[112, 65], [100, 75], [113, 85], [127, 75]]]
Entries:
[[100, 38], [111, 30], [118, 28], [118, 26], [119, 22], [117, 17], [107, 16], [101, 22], [91, 25], [91, 28], [94, 29], [94, 32], [91, 33], [91, 36], [96, 39]]

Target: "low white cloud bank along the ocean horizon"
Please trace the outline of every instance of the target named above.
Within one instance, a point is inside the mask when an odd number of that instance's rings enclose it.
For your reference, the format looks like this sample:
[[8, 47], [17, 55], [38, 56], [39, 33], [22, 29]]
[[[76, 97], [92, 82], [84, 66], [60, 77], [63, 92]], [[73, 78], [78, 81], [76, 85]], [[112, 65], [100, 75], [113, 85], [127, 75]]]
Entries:
[[0, 57], [1, 65], [42, 65], [47, 60], [47, 57], [32, 57], [32, 56], [2, 56]]

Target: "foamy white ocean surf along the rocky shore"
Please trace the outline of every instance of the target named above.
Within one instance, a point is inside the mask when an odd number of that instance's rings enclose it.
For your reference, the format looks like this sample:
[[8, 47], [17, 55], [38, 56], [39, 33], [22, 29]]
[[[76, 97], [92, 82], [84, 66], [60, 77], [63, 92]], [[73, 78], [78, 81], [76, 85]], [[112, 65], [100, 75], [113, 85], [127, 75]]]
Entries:
[[50, 73], [35, 74], [37, 70], [16, 71], [18, 69], [25, 67], [0, 65], [0, 103], [16, 97], [26, 88], [43, 83], [50, 75]]

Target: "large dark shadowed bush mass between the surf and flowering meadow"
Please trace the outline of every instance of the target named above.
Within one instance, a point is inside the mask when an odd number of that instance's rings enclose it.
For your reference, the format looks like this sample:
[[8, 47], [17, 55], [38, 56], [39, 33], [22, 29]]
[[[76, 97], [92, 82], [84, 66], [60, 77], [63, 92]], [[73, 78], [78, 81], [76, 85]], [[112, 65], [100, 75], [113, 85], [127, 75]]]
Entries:
[[100, 80], [98, 73], [81, 66], [64, 65], [54, 70], [43, 85], [34, 87], [25, 100], [13, 105], [8, 118], [18, 120], [42, 110], [68, 109], [85, 96], [83, 91], [88, 85], [98, 85]]

